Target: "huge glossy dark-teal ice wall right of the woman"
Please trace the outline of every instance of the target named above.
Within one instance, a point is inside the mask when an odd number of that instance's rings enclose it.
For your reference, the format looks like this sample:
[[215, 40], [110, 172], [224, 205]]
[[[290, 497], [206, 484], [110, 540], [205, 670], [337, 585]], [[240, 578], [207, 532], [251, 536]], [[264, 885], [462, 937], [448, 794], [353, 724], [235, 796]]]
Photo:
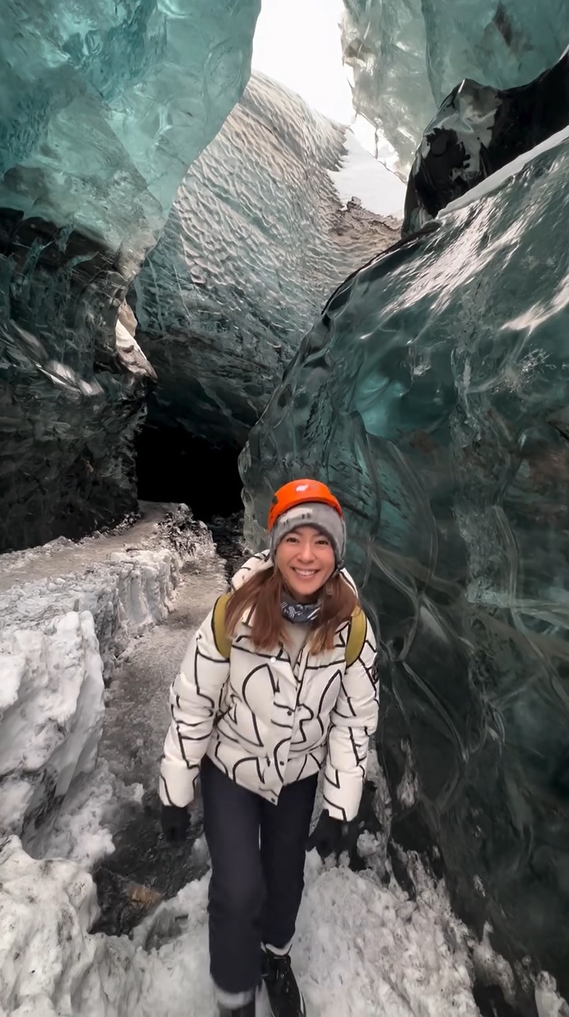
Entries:
[[565, 994], [568, 180], [558, 142], [354, 274], [241, 458], [252, 544], [291, 475], [338, 493], [394, 801], [408, 741], [455, 903]]

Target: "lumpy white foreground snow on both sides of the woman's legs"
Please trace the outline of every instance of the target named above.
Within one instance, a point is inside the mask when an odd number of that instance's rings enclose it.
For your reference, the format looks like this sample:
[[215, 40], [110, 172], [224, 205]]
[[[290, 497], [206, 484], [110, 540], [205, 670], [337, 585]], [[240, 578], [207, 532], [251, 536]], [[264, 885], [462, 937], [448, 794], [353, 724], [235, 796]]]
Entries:
[[[442, 886], [408, 856], [411, 901], [375, 869], [354, 874], [306, 858], [293, 963], [311, 1017], [477, 1017], [469, 935]], [[34, 1017], [206, 1017], [208, 882], [189, 883], [132, 936], [91, 935], [89, 874], [30, 858], [16, 837], [0, 849], [0, 1012]], [[539, 1017], [560, 1017], [555, 982], [535, 989]], [[266, 1013], [260, 1001], [258, 1013]]]

